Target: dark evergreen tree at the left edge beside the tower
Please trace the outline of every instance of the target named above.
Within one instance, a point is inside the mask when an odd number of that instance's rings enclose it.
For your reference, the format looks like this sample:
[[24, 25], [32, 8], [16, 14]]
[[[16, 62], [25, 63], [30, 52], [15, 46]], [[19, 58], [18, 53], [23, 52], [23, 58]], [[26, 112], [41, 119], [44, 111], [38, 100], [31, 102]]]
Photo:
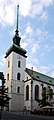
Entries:
[[[3, 72], [0, 72], [0, 80], [2, 82], [2, 85], [0, 86], [0, 107], [1, 107], [1, 116], [2, 116], [2, 109], [4, 106], [7, 106], [9, 104], [9, 96], [8, 96], [8, 88], [5, 88], [5, 79]], [[1, 119], [0, 116], [0, 119]]]

